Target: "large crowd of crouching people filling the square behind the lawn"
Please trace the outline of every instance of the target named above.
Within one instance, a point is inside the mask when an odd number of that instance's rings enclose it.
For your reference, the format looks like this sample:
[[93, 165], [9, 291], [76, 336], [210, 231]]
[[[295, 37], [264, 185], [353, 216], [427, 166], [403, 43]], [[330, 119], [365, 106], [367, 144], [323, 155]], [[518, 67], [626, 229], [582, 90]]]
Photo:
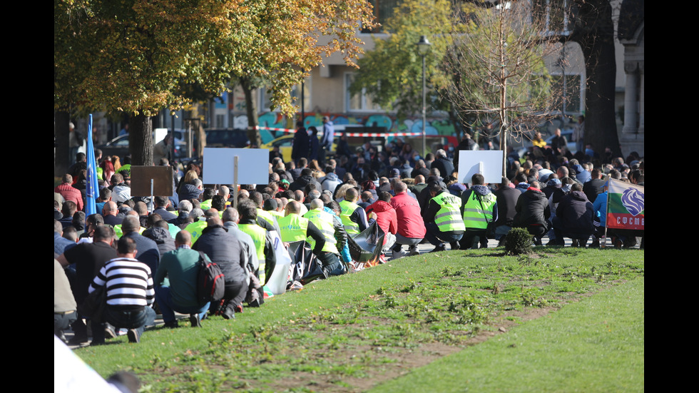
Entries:
[[[101, 288], [106, 308], [91, 320], [92, 344], [116, 337], [118, 328], [139, 342], [143, 327], [153, 325], [154, 304], [166, 327], [178, 327], [175, 312], [190, 315], [193, 327], [208, 315], [235, 318], [244, 305], [264, 302], [277, 267], [277, 240], [309, 243], [322, 277], [359, 270], [349, 245], [374, 225], [384, 233], [379, 262], [417, 255], [425, 242], [432, 252], [447, 244], [451, 250], [487, 247], [489, 238], [502, 243], [511, 228], [529, 230], [536, 245], [548, 237], [548, 245], [571, 238], [574, 246], [592, 239], [596, 247], [604, 233], [605, 178], [645, 181], [643, 160], [633, 153], [600, 159], [535, 145], [522, 159], [509, 153], [500, 183], [488, 184], [480, 174], [461, 183], [455, 154], [478, 148], [469, 136], [425, 157], [399, 138], [352, 150], [345, 135], [332, 152], [328, 123], [324, 119], [320, 141], [300, 127], [304, 143], [294, 159], [285, 163], [272, 152], [268, 183], [240, 185], [237, 200], [228, 185], [203, 184], [203, 170], [215, 170], [205, 163], [173, 165], [175, 192], [153, 200], [132, 197], [128, 171], [104, 165], [110, 170], [101, 172], [99, 213], [86, 217], [80, 183], [73, 173], [64, 175], [54, 189], [56, 336], [65, 340], [70, 326], [71, 344], [88, 342], [90, 319], [77, 306]], [[309, 160], [312, 149], [322, 153]], [[159, 163], [170, 165], [166, 158]], [[611, 235], [614, 245], [632, 247], [643, 234]], [[200, 262], [220, 266], [223, 299], [201, 301]]]

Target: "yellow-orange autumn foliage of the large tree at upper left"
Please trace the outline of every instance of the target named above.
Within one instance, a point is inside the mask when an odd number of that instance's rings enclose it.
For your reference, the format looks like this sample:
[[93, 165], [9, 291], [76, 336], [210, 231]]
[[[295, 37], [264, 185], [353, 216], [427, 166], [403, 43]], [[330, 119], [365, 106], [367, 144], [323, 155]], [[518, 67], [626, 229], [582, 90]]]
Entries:
[[151, 116], [254, 75], [290, 113], [291, 87], [330, 53], [354, 64], [372, 20], [364, 0], [55, 0], [54, 107]]

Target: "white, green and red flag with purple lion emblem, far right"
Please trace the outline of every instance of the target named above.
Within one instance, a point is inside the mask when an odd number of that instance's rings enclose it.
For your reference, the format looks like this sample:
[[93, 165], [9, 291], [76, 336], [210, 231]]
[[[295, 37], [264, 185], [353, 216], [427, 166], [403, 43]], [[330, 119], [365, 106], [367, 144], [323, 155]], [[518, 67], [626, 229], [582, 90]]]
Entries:
[[609, 179], [607, 228], [643, 230], [645, 225], [644, 187]]

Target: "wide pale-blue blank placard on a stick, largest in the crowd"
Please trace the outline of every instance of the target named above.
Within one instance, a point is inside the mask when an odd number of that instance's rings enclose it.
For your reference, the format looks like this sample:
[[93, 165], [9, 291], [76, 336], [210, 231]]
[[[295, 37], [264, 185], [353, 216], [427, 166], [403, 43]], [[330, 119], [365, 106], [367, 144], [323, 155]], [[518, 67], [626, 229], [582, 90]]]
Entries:
[[270, 180], [270, 150], [204, 148], [206, 184], [233, 184], [233, 160], [238, 156], [238, 184], [267, 184]]

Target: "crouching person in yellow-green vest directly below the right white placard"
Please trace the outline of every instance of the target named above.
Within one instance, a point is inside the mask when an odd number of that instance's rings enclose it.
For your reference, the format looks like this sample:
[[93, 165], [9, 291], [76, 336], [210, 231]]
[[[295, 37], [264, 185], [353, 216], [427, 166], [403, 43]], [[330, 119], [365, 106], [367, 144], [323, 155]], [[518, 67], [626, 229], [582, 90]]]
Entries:
[[486, 231], [488, 224], [498, 219], [498, 205], [494, 193], [485, 183], [483, 175], [471, 176], [471, 188], [461, 194], [461, 213], [464, 215], [466, 232], [461, 238], [461, 250], [488, 247]]

